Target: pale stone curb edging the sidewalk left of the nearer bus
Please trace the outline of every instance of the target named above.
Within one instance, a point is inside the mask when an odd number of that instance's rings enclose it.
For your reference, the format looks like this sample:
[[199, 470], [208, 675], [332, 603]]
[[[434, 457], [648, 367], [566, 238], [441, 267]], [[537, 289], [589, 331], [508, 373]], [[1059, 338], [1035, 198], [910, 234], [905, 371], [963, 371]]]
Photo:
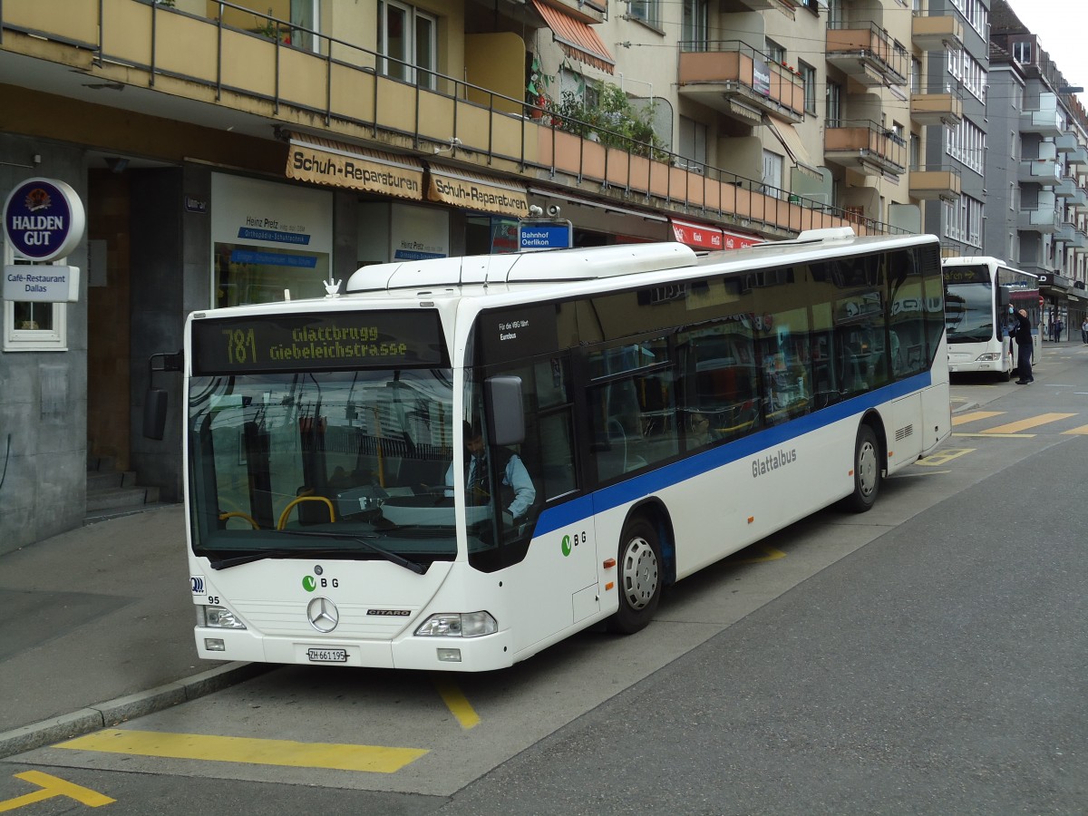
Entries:
[[269, 671], [268, 664], [228, 663], [199, 675], [156, 689], [110, 700], [72, 714], [51, 717], [0, 733], [0, 758], [22, 754], [61, 740], [81, 737], [100, 728], [121, 725], [164, 708], [202, 697]]

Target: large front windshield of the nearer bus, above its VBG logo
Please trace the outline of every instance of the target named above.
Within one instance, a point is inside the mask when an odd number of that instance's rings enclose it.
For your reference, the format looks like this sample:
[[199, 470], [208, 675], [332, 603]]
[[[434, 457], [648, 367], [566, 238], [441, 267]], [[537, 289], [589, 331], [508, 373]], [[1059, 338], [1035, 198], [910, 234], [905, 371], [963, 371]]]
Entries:
[[449, 369], [193, 376], [188, 422], [193, 548], [213, 568], [456, 556]]

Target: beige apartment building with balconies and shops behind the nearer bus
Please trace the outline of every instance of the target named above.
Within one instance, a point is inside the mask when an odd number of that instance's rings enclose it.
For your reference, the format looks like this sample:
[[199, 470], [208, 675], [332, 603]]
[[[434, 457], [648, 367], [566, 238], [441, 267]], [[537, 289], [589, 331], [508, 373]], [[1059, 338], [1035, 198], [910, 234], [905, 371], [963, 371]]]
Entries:
[[537, 212], [579, 246], [948, 236], [986, 200], [965, 2], [8, 0], [0, 193], [64, 181], [87, 228], [75, 302], [3, 304], [0, 547], [81, 524], [99, 462], [181, 498], [150, 358], [193, 310], [511, 251]]

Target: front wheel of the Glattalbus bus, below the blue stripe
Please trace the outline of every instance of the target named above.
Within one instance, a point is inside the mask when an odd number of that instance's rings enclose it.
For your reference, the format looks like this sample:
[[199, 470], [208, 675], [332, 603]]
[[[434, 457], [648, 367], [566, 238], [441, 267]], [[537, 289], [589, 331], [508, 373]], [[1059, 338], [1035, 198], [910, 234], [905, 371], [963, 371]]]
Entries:
[[608, 630], [633, 634], [654, 617], [662, 597], [662, 547], [657, 531], [645, 518], [623, 527], [619, 541], [619, 609], [608, 619]]

